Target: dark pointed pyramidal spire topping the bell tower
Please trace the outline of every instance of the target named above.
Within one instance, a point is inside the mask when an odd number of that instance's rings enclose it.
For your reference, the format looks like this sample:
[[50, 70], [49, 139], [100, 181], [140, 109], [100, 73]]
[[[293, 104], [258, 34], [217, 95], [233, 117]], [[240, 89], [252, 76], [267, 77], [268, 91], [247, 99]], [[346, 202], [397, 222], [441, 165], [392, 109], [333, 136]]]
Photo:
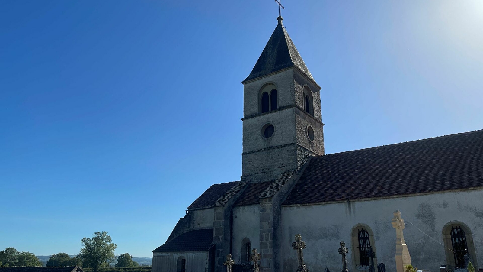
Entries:
[[241, 83], [293, 66], [297, 67], [315, 83], [292, 39], [290, 39], [287, 31], [284, 29], [283, 19], [282, 16], [278, 16], [277, 27], [273, 31], [269, 42], [265, 45], [260, 58], [256, 61], [252, 73]]

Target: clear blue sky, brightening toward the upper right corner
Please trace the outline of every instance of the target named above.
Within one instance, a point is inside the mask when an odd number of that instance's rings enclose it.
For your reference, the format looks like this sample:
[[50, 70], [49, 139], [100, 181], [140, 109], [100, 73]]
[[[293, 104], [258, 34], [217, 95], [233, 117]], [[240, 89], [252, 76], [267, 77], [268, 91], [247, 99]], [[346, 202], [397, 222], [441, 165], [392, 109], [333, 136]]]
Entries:
[[[326, 152], [483, 128], [483, 1], [283, 0]], [[273, 0], [0, 1], [0, 250], [151, 257], [241, 175], [242, 84]]]

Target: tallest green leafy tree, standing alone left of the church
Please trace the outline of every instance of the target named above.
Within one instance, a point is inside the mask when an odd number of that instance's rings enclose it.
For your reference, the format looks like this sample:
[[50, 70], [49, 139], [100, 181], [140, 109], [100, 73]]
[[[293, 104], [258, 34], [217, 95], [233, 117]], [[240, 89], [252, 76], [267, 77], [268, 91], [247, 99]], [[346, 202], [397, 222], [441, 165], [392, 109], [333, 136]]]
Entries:
[[84, 237], [81, 240], [79, 257], [82, 258], [83, 267], [90, 267], [93, 272], [98, 272], [114, 262], [114, 250], [117, 245], [113, 243], [111, 236], [107, 235], [107, 231], [94, 232], [93, 235], [92, 238]]

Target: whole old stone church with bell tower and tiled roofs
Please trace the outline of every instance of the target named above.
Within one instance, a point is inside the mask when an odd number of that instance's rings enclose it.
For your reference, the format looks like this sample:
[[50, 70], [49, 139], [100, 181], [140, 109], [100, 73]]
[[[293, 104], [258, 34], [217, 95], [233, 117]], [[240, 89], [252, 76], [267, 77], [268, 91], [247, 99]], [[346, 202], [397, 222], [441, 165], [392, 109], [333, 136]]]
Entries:
[[[396, 272], [399, 210], [411, 263], [483, 265], [483, 130], [334, 154], [324, 152], [320, 86], [282, 23], [243, 84], [240, 181], [213, 184], [153, 250], [153, 272], [225, 272], [228, 254], [261, 272], [295, 272], [295, 235], [310, 271], [374, 262]], [[161, 243], [161, 242], [160, 242]], [[466, 271], [466, 270], [465, 270]]]

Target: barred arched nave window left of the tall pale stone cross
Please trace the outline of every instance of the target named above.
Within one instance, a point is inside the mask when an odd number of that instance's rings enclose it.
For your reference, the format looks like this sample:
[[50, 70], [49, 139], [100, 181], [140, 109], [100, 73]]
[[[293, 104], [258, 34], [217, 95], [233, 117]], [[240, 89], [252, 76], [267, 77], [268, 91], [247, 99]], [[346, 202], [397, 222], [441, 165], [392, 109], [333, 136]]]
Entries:
[[[353, 271], [365, 270], [370, 265], [369, 246], [372, 247], [372, 252], [376, 253], [374, 245], [374, 233], [369, 226], [365, 224], [356, 225], [352, 229], [352, 263]], [[374, 263], [377, 260], [374, 259]]]

